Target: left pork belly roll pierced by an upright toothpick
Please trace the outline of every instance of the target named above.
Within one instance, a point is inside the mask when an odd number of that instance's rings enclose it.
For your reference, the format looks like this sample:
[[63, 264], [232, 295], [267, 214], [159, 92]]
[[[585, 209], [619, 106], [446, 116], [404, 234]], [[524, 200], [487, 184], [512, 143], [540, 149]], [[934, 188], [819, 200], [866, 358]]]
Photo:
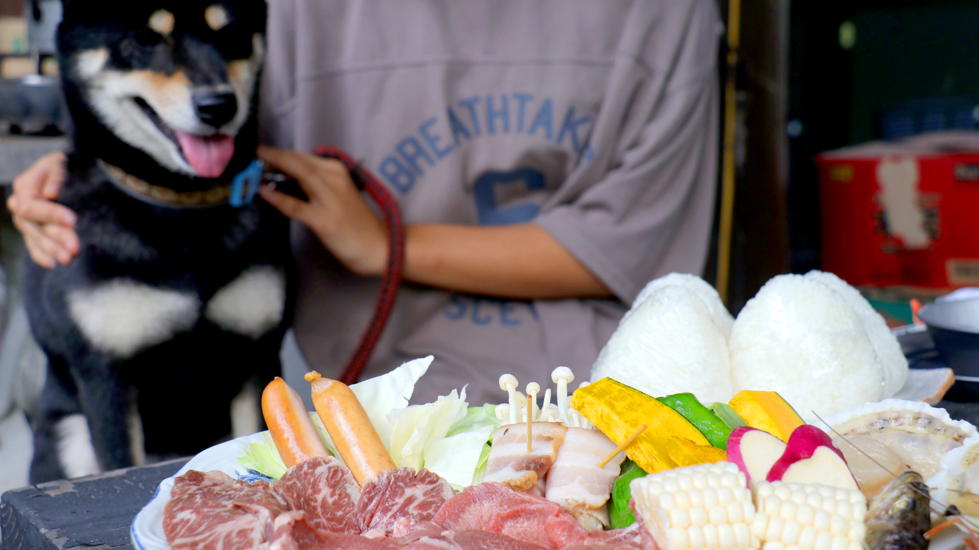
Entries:
[[567, 430], [556, 422], [535, 422], [528, 453], [526, 423], [500, 426], [492, 435], [483, 481], [502, 483], [520, 491], [534, 489], [554, 463]]

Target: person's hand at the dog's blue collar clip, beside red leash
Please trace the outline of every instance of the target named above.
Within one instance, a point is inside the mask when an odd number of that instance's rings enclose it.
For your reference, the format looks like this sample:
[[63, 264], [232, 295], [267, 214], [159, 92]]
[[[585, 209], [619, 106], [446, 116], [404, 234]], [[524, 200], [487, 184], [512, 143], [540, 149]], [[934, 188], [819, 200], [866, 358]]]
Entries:
[[261, 188], [262, 199], [312, 230], [350, 271], [361, 276], [384, 272], [387, 229], [360, 197], [341, 161], [267, 146], [258, 148], [258, 158], [296, 178], [309, 201], [267, 186]]

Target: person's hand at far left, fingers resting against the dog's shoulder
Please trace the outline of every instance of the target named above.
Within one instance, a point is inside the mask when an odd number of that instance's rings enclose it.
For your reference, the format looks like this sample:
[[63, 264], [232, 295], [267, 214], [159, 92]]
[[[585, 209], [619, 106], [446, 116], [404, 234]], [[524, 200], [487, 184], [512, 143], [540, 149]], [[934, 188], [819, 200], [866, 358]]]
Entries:
[[27, 252], [38, 265], [48, 269], [56, 261], [68, 265], [78, 253], [74, 212], [53, 202], [61, 193], [65, 177], [65, 154], [50, 153], [14, 180], [14, 194], [7, 200]]

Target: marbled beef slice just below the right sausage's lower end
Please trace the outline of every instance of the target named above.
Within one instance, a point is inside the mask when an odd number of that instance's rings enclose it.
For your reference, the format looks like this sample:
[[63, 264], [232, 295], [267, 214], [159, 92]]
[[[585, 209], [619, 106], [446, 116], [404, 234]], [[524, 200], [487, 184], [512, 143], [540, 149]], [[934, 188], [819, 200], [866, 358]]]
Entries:
[[448, 481], [424, 468], [381, 472], [361, 487], [355, 514], [358, 532], [404, 536], [431, 520], [454, 494]]

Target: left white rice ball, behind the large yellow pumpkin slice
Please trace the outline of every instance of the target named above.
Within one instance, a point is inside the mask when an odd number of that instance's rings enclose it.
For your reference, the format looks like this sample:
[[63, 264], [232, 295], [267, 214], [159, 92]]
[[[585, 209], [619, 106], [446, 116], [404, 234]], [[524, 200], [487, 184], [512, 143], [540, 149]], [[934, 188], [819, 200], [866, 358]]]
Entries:
[[729, 399], [730, 363], [717, 311], [687, 285], [643, 293], [598, 354], [591, 381], [610, 377], [653, 396], [691, 391], [704, 402]]

